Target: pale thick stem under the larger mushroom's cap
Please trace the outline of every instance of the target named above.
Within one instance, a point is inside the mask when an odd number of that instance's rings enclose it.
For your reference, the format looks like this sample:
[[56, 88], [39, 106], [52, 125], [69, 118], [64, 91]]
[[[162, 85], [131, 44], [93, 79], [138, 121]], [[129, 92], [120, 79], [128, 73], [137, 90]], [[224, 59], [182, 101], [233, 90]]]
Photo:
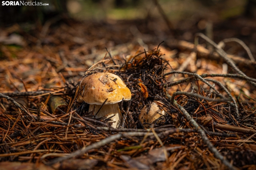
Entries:
[[[95, 106], [95, 109], [94, 109], [94, 115], [95, 115], [98, 112], [98, 110], [100, 109], [101, 105], [90, 105], [89, 112], [93, 111], [94, 106]], [[106, 115], [108, 115], [107, 117], [111, 117], [111, 116], [115, 115], [114, 117], [111, 118], [112, 121], [114, 121], [112, 123], [111, 127], [119, 128], [122, 125], [122, 114], [120, 112], [118, 103], [110, 104], [110, 105], [103, 105], [101, 107], [100, 111], [98, 112], [98, 114], [96, 115], [96, 118], [104, 117]]]

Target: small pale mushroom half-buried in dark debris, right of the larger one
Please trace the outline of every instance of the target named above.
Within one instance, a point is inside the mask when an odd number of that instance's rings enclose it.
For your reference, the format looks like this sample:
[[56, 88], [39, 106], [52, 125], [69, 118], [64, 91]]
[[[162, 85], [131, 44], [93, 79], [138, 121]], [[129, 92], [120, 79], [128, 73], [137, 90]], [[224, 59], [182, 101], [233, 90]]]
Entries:
[[[150, 110], [148, 111], [147, 105], [143, 107], [141, 110], [141, 113], [139, 114], [139, 121], [141, 121], [141, 124], [149, 128], [150, 124], [156, 124], [159, 125], [161, 119], [159, 119], [161, 116], [164, 116], [167, 114], [165, 109], [157, 104], [158, 101], [152, 102], [150, 104]], [[161, 102], [160, 102], [161, 103]], [[145, 124], [149, 123], [149, 124]]]

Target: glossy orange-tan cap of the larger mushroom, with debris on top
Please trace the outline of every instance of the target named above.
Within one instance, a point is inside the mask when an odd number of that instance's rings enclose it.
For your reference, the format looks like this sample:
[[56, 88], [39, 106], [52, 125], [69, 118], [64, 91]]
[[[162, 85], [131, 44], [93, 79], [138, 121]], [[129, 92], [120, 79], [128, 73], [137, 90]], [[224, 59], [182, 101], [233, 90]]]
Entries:
[[89, 75], [81, 82], [81, 94], [79, 100], [88, 104], [102, 105], [114, 104], [124, 100], [131, 100], [131, 91], [126, 87], [123, 80], [109, 72], [99, 72]]

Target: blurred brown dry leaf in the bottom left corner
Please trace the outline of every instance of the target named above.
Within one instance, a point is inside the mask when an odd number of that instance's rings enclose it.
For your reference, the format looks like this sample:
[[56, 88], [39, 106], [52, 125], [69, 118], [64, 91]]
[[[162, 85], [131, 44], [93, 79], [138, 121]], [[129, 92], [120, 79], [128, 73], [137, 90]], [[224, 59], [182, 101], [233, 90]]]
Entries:
[[54, 170], [51, 166], [40, 163], [22, 163], [22, 162], [0, 162], [1, 170]]

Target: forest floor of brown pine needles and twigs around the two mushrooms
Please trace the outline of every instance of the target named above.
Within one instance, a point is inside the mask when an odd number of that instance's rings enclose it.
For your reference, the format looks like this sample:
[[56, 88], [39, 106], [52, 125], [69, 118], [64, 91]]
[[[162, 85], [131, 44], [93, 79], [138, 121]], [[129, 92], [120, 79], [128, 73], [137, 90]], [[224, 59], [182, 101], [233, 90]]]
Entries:
[[[1, 29], [1, 169], [256, 169], [256, 24], [207, 24], [180, 21], [174, 33], [154, 19], [57, 17]], [[132, 92], [119, 129], [76, 100], [94, 72]], [[167, 114], [143, 124], [154, 101]]]

